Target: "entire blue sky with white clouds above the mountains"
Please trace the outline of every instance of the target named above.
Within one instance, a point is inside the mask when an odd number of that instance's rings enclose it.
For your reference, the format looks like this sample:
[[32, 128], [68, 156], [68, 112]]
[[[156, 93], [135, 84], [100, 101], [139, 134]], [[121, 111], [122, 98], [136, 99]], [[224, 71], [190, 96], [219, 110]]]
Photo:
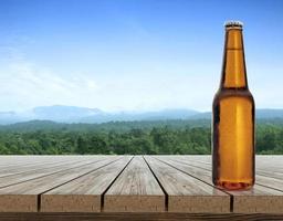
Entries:
[[283, 108], [281, 0], [0, 0], [0, 110], [210, 110], [227, 20], [256, 107]]

